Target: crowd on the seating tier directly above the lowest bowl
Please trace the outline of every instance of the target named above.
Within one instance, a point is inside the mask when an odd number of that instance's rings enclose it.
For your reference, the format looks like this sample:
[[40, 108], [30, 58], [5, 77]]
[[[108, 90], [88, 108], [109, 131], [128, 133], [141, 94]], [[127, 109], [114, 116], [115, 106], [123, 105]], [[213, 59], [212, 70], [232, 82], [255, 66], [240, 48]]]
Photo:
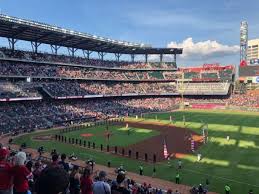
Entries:
[[203, 95], [228, 94], [230, 83], [184, 83], [175, 82], [104, 82], [104, 81], [0, 81], [0, 99], [42, 99], [41, 88], [52, 98], [83, 98], [84, 96], [131, 96], [131, 95]]

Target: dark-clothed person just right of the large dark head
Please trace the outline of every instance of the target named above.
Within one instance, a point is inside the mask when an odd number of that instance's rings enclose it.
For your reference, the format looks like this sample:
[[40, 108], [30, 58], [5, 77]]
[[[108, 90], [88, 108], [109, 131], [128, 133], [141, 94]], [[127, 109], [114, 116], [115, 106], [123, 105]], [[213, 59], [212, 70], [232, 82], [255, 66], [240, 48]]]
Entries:
[[69, 176], [70, 182], [70, 193], [71, 194], [79, 194], [80, 193], [80, 174], [79, 174], [79, 167], [74, 165], [72, 172]]

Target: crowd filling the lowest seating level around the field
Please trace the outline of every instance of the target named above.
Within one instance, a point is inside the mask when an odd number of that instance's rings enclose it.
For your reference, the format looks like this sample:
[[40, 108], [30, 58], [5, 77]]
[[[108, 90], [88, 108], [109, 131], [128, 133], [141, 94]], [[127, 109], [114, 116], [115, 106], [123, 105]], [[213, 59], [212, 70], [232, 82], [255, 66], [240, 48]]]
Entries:
[[[116, 87], [115, 87], [116, 88]], [[100, 91], [102, 89], [100, 88]], [[61, 90], [53, 95], [65, 95]], [[67, 91], [67, 90], [64, 90]], [[81, 92], [81, 91], [80, 91]], [[77, 93], [74, 93], [76, 95]], [[81, 93], [80, 93], [81, 95]], [[233, 94], [230, 97], [185, 98], [185, 102], [216, 103], [227, 106], [259, 107], [259, 97], [252, 94]], [[182, 102], [181, 97], [137, 99], [92, 99], [77, 101], [23, 101], [0, 103], [0, 130], [2, 132], [33, 130], [67, 126], [88, 120], [103, 120], [147, 112], [170, 111]]]

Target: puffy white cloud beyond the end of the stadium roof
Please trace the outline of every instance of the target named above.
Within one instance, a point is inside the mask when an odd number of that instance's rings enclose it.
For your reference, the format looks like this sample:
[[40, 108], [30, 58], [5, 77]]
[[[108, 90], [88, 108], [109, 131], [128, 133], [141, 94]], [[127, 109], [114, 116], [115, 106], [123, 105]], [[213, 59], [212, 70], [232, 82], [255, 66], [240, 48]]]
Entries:
[[168, 48], [183, 48], [180, 58], [194, 60], [208, 60], [226, 56], [235, 56], [239, 53], [238, 45], [224, 45], [215, 40], [194, 42], [191, 37], [181, 43], [170, 42]]

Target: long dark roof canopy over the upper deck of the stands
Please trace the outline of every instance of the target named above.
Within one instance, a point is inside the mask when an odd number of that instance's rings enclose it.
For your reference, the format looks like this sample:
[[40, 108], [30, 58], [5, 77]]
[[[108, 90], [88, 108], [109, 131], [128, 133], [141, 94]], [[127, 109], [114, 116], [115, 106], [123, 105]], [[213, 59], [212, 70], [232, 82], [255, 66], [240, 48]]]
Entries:
[[146, 44], [112, 40], [3, 14], [0, 14], [0, 37], [31, 41], [36, 45], [44, 43], [104, 53], [182, 54], [182, 49], [180, 48], [153, 48]]

